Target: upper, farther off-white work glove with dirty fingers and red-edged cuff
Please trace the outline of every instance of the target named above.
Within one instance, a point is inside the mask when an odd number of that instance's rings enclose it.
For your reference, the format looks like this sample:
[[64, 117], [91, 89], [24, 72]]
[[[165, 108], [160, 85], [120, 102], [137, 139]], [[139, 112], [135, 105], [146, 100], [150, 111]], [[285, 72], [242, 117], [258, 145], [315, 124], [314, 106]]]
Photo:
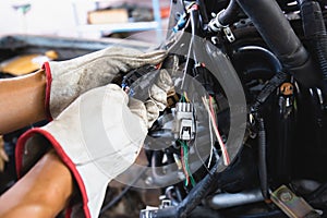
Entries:
[[165, 50], [143, 53], [132, 48], [110, 47], [66, 61], [46, 62], [46, 110], [49, 119], [56, 118], [86, 90], [110, 83], [118, 73], [157, 64], [165, 57]]

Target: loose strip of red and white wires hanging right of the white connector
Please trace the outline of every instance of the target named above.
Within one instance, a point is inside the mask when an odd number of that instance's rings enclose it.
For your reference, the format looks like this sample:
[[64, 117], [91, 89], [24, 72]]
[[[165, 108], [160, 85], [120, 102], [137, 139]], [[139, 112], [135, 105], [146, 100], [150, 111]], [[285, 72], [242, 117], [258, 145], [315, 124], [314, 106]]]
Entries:
[[203, 104], [204, 104], [206, 110], [208, 111], [209, 119], [210, 119], [213, 128], [214, 128], [214, 132], [218, 140], [218, 143], [219, 143], [219, 146], [220, 146], [220, 149], [222, 153], [223, 165], [228, 166], [230, 164], [230, 158], [229, 158], [226, 145], [222, 142], [221, 135], [218, 130], [218, 122], [217, 122], [216, 112], [214, 109], [214, 99], [211, 96], [209, 96], [209, 99], [207, 99], [206, 97], [202, 97], [202, 100], [203, 100]]

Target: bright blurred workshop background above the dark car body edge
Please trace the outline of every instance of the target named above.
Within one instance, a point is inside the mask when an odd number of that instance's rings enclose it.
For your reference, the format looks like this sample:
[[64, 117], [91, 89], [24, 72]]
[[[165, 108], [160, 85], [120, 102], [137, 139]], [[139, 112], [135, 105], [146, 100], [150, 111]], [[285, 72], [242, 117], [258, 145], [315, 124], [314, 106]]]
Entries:
[[166, 29], [169, 8], [169, 0], [2, 0], [0, 34], [99, 38]]

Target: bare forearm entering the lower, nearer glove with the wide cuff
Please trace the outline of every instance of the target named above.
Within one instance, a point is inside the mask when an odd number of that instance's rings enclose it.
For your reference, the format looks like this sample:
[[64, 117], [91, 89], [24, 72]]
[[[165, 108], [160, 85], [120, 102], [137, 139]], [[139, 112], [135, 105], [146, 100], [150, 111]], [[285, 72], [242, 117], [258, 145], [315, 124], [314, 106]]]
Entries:
[[71, 172], [51, 150], [0, 196], [0, 217], [56, 217], [72, 193]]

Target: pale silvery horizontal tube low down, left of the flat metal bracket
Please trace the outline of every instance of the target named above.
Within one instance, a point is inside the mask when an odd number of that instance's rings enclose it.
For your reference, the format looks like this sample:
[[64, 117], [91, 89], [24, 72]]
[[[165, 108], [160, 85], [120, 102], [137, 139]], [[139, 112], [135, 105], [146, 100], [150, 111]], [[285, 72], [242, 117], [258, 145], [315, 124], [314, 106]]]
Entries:
[[214, 209], [223, 209], [263, 201], [264, 196], [261, 190], [251, 190], [240, 193], [219, 193], [210, 197], [207, 203]]

